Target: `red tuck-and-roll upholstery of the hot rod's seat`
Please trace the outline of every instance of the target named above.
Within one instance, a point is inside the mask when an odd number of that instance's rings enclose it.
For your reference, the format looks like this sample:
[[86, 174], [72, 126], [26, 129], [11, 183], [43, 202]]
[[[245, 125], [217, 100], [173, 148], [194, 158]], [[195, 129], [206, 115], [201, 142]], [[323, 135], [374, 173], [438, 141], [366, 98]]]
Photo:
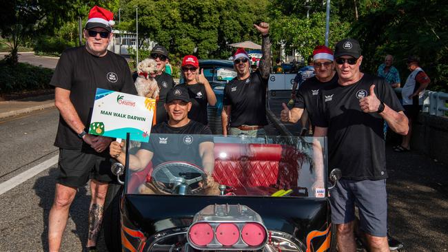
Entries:
[[[297, 187], [300, 152], [278, 144], [215, 143], [214, 180], [229, 187]], [[294, 167], [290, 167], [294, 166]], [[152, 172], [151, 165], [132, 174], [128, 192], [141, 185]]]

